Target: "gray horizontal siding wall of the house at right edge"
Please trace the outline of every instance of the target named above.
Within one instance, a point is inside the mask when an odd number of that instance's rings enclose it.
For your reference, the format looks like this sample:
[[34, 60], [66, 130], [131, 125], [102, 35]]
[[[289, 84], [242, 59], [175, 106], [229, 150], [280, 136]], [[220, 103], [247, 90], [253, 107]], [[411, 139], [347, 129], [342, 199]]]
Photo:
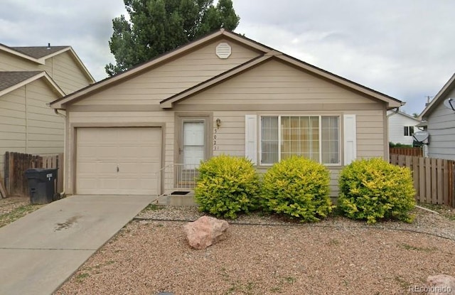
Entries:
[[[452, 90], [446, 97], [454, 96], [455, 90]], [[427, 118], [430, 136], [428, 156], [455, 160], [455, 112], [444, 106], [444, 100], [439, 102]]]

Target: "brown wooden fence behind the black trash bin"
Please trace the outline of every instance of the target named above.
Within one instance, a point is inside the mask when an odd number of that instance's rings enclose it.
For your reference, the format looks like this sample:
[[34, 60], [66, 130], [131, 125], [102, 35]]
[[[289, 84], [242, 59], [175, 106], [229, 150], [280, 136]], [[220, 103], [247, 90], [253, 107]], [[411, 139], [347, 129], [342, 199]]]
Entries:
[[28, 179], [25, 176], [29, 168], [58, 168], [55, 193], [63, 191], [63, 154], [38, 156], [7, 151], [4, 184], [8, 195], [29, 195]]

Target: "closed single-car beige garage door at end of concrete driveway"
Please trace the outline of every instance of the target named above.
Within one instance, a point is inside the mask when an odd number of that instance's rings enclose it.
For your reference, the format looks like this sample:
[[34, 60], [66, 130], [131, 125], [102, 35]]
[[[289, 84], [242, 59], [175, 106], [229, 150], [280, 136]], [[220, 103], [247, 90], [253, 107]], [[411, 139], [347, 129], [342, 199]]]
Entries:
[[76, 193], [159, 193], [161, 128], [77, 128], [76, 141]]

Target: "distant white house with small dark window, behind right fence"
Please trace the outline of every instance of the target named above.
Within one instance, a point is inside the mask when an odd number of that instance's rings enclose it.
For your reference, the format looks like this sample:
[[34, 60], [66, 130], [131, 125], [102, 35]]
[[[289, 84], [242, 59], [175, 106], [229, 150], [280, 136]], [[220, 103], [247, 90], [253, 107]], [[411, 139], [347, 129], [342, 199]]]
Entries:
[[419, 131], [417, 127], [417, 124], [421, 123], [419, 119], [393, 109], [387, 111], [387, 121], [389, 124], [389, 142], [412, 145], [414, 141], [412, 134]]

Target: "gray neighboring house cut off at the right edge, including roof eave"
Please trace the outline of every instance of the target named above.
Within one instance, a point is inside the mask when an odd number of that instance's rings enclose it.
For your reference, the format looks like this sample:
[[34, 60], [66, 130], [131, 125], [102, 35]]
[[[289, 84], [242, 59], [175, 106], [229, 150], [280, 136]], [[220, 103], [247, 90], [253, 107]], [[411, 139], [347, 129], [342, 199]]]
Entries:
[[455, 107], [455, 74], [419, 117], [426, 121], [429, 134], [427, 149], [430, 158], [455, 160], [455, 111], [444, 105], [444, 101], [449, 98], [454, 98], [452, 104]]

